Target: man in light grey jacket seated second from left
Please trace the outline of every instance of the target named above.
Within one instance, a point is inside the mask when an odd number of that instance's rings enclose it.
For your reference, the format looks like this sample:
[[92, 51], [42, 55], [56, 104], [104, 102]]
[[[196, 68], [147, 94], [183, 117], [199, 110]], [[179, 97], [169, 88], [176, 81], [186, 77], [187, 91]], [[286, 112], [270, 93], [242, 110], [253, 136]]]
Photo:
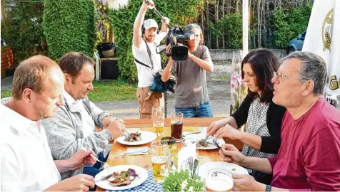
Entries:
[[[65, 105], [59, 107], [53, 118], [44, 119], [46, 135], [54, 159], [68, 159], [82, 146], [94, 150], [98, 159], [106, 161], [112, 144], [109, 142], [125, 132], [125, 124], [89, 101], [87, 95], [94, 89], [94, 60], [82, 53], [66, 53], [59, 60], [65, 77], [62, 93]], [[114, 94], [114, 92], [112, 92]], [[105, 128], [96, 132], [95, 127]], [[61, 178], [77, 174], [96, 176], [101, 164], [67, 171]]]

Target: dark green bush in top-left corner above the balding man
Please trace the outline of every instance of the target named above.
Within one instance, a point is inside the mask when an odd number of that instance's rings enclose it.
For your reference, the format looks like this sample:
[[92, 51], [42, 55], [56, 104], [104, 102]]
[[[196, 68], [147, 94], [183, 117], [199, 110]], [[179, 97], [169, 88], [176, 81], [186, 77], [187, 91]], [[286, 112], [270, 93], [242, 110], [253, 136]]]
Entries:
[[[1, 4], [2, 5], [2, 4]], [[36, 54], [47, 54], [42, 30], [44, 6], [37, 1], [4, 1], [5, 17], [1, 19], [1, 38], [11, 46], [14, 63]]]

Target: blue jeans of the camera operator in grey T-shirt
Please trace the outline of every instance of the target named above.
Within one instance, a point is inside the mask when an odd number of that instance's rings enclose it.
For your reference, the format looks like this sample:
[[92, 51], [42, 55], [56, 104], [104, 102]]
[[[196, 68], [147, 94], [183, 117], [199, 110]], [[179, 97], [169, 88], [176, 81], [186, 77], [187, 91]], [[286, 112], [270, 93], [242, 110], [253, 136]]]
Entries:
[[175, 107], [176, 112], [182, 112], [185, 118], [189, 117], [214, 117], [211, 111], [210, 103], [205, 102], [197, 107], [179, 108]]

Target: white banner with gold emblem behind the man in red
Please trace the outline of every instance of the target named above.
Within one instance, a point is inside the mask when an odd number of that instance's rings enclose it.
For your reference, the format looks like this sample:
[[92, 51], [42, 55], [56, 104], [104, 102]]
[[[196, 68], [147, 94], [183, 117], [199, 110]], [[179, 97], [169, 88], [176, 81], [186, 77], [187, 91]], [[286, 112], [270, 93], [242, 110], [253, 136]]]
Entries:
[[[337, 13], [335, 14], [336, 10]], [[329, 81], [326, 85], [326, 92], [327, 95], [332, 96], [340, 95], [339, 34], [339, 0], [314, 1], [302, 50], [312, 51], [326, 61], [329, 69]]]

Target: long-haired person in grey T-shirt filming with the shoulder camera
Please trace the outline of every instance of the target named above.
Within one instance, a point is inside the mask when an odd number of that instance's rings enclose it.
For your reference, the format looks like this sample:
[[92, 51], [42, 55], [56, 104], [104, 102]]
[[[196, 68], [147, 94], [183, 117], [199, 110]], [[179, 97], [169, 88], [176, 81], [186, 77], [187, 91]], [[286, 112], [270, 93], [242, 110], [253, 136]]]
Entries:
[[[194, 33], [194, 39], [187, 41], [188, 59], [178, 61], [171, 57], [161, 74], [161, 80], [169, 80], [171, 71], [176, 74], [176, 112], [183, 112], [184, 117], [213, 117], [206, 88], [206, 71], [212, 72], [214, 64], [208, 48], [202, 46], [204, 39], [201, 28], [191, 23], [184, 28], [184, 33], [190, 32]], [[170, 49], [171, 44], [166, 47], [166, 53]]]

